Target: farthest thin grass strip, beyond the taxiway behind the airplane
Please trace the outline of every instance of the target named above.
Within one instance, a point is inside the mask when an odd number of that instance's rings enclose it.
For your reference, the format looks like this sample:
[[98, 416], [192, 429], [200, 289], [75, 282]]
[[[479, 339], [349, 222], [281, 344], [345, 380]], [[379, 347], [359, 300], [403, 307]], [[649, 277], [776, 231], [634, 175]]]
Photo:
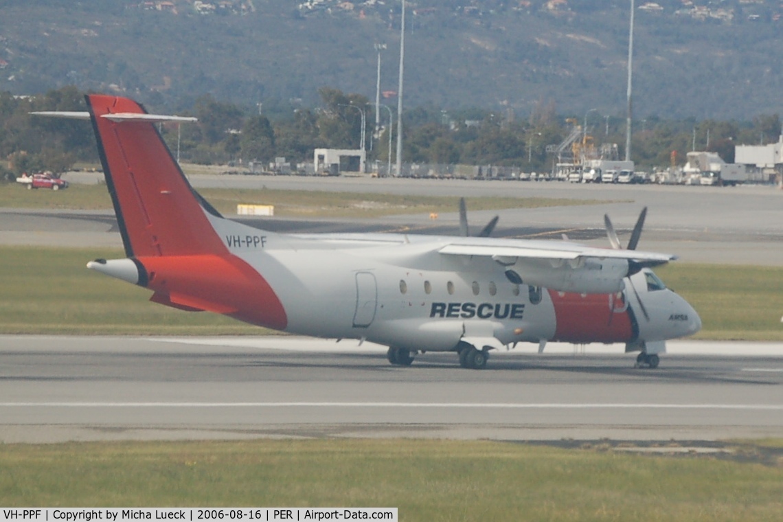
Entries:
[[[236, 214], [239, 203], [274, 205], [275, 215], [305, 218], [376, 218], [390, 214], [456, 212], [458, 197], [401, 196], [381, 193], [330, 193], [309, 190], [199, 189], [218, 211]], [[606, 203], [564, 198], [468, 197], [471, 211]], [[27, 190], [20, 183], [0, 183], [0, 207], [100, 210], [110, 209], [106, 185], [71, 184], [68, 189]]]

